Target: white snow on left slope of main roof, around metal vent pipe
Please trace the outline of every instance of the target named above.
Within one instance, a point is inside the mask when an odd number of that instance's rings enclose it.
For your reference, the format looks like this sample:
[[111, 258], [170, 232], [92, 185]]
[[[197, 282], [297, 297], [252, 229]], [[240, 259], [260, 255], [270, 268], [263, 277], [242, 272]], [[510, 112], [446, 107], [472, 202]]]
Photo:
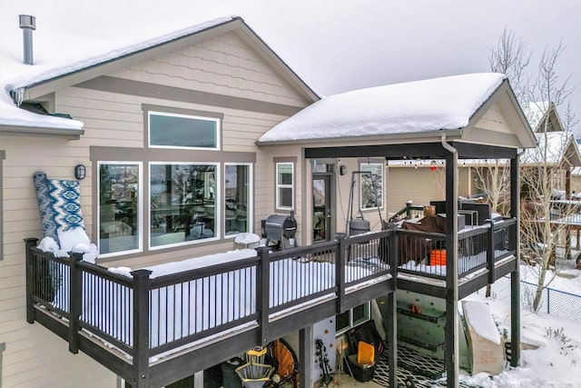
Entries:
[[[19, 95], [19, 89], [35, 85], [54, 77], [68, 75], [93, 65], [103, 64], [123, 55], [151, 48], [192, 35], [215, 25], [222, 25], [231, 21], [235, 16], [222, 17], [182, 28], [164, 35], [154, 35], [143, 30], [141, 36], [132, 36], [131, 41], [89, 39], [79, 35], [64, 35], [48, 28], [36, 33], [34, 39], [40, 41], [34, 45], [34, 65], [25, 65], [22, 62], [22, 37], [17, 24], [2, 25], [2, 33], [6, 32], [7, 39], [0, 40], [0, 126], [58, 128], [82, 130], [84, 124], [77, 120], [56, 117], [45, 114], [34, 114], [20, 109], [9, 95], [13, 91]], [[15, 21], [18, 19], [15, 18]], [[41, 34], [42, 33], [42, 34]], [[42, 39], [42, 40], [41, 40]], [[58, 55], [55, 55], [58, 47]], [[66, 48], [64, 50], [64, 48]], [[18, 98], [18, 97], [17, 97]]]

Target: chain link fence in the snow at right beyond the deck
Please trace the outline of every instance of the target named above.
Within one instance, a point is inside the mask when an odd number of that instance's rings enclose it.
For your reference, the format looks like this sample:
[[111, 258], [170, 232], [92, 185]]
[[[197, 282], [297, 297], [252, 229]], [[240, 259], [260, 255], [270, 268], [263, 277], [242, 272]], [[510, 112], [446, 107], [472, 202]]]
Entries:
[[[483, 291], [481, 291], [483, 292]], [[537, 284], [520, 281], [520, 303], [524, 309], [533, 310]], [[492, 284], [492, 297], [510, 303], [510, 277], [504, 276]], [[546, 288], [543, 290], [538, 313], [547, 313], [568, 321], [581, 323], [581, 295]]]

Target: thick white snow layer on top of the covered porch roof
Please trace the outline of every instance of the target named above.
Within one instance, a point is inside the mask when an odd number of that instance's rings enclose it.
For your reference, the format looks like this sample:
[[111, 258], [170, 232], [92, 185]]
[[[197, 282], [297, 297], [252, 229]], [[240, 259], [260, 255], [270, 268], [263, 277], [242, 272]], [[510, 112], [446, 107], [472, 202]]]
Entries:
[[460, 129], [505, 78], [455, 75], [331, 95], [276, 125], [259, 142]]

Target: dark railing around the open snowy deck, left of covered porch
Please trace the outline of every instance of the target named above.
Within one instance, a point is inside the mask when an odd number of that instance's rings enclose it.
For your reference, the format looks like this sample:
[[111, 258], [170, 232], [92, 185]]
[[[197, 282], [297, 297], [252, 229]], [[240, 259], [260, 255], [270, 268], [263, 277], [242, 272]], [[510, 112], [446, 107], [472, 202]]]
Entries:
[[[182, 350], [190, 343], [234, 328], [259, 325], [266, 337], [277, 313], [341, 300], [350, 288], [379, 277], [393, 278], [387, 260], [395, 231], [280, 252], [258, 250], [254, 257], [152, 277], [148, 270], [117, 274], [82, 261], [80, 254], [57, 258], [27, 247], [27, 321], [35, 309], [54, 313], [68, 323], [71, 352], [78, 352], [81, 331], [105, 346], [145, 364]], [[380, 250], [384, 251], [381, 254]], [[369, 284], [370, 285], [370, 284]]]

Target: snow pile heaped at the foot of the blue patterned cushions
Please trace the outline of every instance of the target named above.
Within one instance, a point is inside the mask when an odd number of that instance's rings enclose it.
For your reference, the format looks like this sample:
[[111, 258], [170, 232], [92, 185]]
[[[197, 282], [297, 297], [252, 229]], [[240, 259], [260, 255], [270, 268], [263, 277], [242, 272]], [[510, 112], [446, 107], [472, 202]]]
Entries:
[[99, 252], [83, 228], [73, 228], [65, 232], [58, 231], [58, 239], [61, 243], [60, 247], [53, 238], [44, 237], [37, 248], [43, 252], [51, 252], [54, 257], [69, 257], [70, 252], [83, 254], [85, 262], [94, 264]]

